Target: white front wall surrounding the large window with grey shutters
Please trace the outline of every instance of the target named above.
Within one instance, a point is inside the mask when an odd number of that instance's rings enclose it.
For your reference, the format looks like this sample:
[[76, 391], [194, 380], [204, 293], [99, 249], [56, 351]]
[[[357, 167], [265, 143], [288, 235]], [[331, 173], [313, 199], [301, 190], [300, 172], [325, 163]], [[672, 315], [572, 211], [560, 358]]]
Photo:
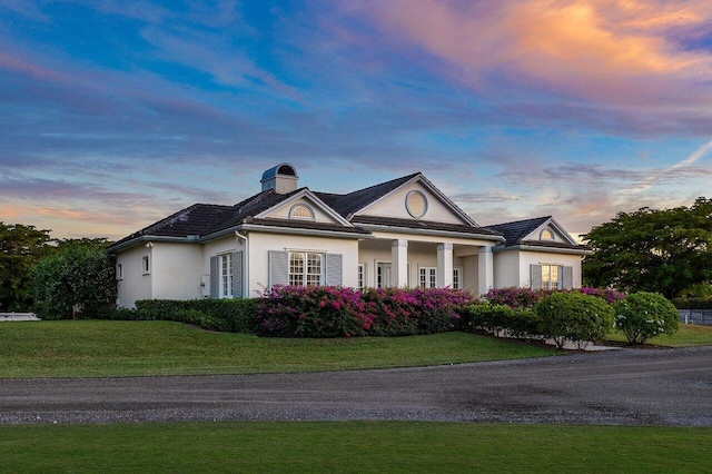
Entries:
[[358, 240], [309, 237], [251, 231], [249, 239], [249, 292], [246, 296], [260, 296], [269, 285], [269, 250], [303, 250], [342, 254], [343, 284], [358, 284]]

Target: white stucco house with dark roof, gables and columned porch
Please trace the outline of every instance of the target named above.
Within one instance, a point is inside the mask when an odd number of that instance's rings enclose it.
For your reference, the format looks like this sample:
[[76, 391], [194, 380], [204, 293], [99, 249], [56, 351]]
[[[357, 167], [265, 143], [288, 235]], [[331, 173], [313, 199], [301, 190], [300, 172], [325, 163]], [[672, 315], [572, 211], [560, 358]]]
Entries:
[[294, 166], [234, 206], [196, 204], [117, 241], [118, 306], [241, 298], [271, 285], [581, 286], [591, 249], [551, 217], [478, 226], [423, 174], [345, 195], [298, 186]]

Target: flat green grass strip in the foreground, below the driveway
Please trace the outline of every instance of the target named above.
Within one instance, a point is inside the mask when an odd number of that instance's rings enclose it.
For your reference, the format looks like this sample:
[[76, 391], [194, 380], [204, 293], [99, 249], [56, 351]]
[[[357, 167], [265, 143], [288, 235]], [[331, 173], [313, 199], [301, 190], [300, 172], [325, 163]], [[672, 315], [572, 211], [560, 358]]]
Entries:
[[711, 472], [711, 427], [425, 422], [0, 426], [3, 472]]

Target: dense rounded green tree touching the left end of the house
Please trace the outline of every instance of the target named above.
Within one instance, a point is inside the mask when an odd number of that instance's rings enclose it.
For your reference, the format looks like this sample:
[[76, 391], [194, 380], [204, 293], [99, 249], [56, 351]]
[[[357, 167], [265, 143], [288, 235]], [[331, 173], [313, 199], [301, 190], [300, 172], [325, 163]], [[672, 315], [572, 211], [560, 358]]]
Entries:
[[93, 316], [116, 300], [113, 258], [106, 239], [62, 240], [32, 270], [34, 312], [43, 319]]

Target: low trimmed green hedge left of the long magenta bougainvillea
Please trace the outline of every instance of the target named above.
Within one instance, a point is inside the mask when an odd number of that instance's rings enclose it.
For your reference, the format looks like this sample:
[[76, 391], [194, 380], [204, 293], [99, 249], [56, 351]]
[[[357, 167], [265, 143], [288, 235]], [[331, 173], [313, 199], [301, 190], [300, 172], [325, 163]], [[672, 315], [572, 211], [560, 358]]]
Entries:
[[210, 330], [251, 333], [257, 299], [141, 299], [136, 309], [112, 309], [102, 319], [176, 320]]

